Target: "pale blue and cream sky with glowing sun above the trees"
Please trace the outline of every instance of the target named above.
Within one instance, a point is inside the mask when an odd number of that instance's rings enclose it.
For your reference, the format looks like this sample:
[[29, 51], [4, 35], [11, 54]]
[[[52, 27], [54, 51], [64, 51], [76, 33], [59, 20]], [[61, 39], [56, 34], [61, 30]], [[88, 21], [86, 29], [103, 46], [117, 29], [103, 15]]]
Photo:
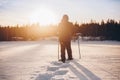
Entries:
[[120, 20], [120, 0], [0, 0], [0, 25]]

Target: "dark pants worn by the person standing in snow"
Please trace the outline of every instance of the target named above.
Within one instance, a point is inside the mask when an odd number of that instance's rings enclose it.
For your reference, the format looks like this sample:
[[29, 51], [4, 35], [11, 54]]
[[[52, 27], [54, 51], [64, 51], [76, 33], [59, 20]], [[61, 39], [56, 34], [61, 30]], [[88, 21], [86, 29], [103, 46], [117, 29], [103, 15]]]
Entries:
[[67, 50], [68, 53], [68, 59], [72, 59], [72, 49], [71, 49], [71, 41], [60, 41], [60, 46], [61, 46], [61, 59], [65, 60], [65, 50]]

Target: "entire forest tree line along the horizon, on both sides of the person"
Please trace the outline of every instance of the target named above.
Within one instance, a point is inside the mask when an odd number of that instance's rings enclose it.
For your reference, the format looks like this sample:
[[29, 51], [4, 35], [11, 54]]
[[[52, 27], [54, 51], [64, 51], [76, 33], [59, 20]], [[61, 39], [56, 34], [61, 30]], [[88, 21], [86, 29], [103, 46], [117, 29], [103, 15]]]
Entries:
[[[57, 36], [58, 25], [49, 25], [42, 27], [39, 24], [0, 26], [0, 41], [15, 40], [37, 40], [45, 37]], [[100, 40], [117, 40], [120, 41], [120, 22], [115, 20], [101, 21], [100, 23], [91, 21], [90, 23], [78, 24], [74, 27], [82, 38], [99, 37]]]

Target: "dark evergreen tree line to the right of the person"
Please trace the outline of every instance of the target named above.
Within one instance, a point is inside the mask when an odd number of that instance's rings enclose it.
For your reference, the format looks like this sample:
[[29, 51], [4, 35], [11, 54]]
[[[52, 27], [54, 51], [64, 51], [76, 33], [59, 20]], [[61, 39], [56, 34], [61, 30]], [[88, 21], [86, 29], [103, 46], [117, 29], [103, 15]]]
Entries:
[[107, 20], [101, 23], [91, 21], [90, 23], [77, 25], [82, 36], [100, 37], [101, 40], [120, 41], [120, 22]]

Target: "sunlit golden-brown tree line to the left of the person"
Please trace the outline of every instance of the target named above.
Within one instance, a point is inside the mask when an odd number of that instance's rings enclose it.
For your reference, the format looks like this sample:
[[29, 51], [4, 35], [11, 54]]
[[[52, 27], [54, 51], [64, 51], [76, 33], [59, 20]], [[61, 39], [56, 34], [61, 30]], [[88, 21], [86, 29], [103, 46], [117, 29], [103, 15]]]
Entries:
[[0, 26], [0, 41], [29, 41], [43, 39], [56, 33], [56, 26], [41, 27], [39, 24]]

